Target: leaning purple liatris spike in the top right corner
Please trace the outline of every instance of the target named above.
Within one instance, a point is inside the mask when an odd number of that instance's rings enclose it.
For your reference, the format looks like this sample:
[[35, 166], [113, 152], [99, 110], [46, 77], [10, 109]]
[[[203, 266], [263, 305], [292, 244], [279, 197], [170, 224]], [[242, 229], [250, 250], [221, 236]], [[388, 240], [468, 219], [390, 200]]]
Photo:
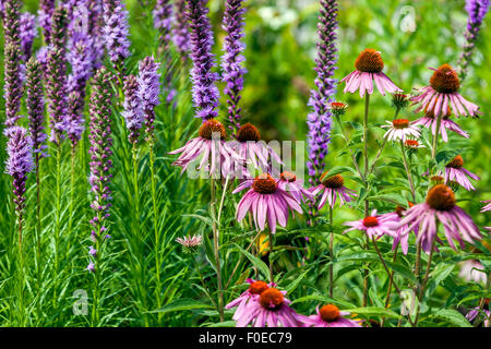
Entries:
[[467, 29], [465, 33], [466, 44], [458, 61], [460, 81], [467, 75], [467, 67], [472, 58], [476, 40], [478, 38], [479, 31], [481, 29], [482, 20], [488, 13], [488, 10], [489, 0], [466, 1], [466, 11], [468, 13]]

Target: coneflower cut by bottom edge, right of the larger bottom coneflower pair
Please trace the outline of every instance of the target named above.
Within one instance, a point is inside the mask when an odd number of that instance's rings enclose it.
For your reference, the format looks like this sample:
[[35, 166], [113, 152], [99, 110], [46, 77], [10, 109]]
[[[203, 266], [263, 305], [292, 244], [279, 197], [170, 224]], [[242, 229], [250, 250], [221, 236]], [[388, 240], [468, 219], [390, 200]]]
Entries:
[[302, 316], [302, 322], [307, 327], [361, 327], [361, 321], [349, 320], [344, 316], [349, 312], [342, 312], [334, 304], [325, 304], [315, 309], [316, 314]]

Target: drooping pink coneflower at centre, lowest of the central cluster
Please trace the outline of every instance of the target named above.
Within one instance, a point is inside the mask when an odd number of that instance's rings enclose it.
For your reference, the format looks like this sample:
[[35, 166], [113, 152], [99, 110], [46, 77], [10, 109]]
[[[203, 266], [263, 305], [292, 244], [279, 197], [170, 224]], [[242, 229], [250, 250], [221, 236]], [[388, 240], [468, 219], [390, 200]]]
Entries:
[[286, 227], [289, 210], [302, 214], [299, 202], [280, 189], [273, 177], [262, 173], [254, 179], [252, 188], [237, 205], [237, 220], [242, 220], [251, 212], [258, 230], [264, 230], [267, 219], [271, 232], [275, 233], [276, 222]]

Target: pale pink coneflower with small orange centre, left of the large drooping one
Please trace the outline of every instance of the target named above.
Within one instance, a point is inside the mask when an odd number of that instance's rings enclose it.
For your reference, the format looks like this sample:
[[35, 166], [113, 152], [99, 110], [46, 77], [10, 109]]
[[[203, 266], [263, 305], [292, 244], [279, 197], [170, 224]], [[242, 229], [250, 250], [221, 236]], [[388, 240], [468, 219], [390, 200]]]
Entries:
[[[366, 231], [370, 239], [380, 239], [383, 236], [392, 236], [393, 230], [397, 228], [399, 218], [392, 214], [376, 215], [376, 209], [373, 209], [371, 215], [363, 219], [355, 221], [346, 221], [345, 226], [351, 228], [346, 229], [343, 233], [351, 230]], [[408, 231], [409, 232], [409, 231]]]

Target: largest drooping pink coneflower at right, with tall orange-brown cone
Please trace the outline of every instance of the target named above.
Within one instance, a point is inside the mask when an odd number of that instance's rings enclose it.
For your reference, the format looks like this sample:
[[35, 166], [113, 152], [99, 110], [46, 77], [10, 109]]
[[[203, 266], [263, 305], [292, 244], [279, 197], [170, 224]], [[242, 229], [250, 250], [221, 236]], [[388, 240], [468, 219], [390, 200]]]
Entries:
[[439, 222], [443, 225], [446, 240], [454, 250], [456, 248], [453, 239], [460, 244], [460, 248], [465, 246], [464, 240], [474, 243], [474, 240], [482, 239], [472, 218], [455, 203], [452, 189], [445, 184], [436, 184], [428, 191], [424, 203], [406, 210], [406, 216], [400, 220], [399, 227], [408, 225], [407, 232], [419, 227], [417, 243], [421, 242], [424, 251], [430, 251], [434, 240], [440, 240], [438, 239]]

